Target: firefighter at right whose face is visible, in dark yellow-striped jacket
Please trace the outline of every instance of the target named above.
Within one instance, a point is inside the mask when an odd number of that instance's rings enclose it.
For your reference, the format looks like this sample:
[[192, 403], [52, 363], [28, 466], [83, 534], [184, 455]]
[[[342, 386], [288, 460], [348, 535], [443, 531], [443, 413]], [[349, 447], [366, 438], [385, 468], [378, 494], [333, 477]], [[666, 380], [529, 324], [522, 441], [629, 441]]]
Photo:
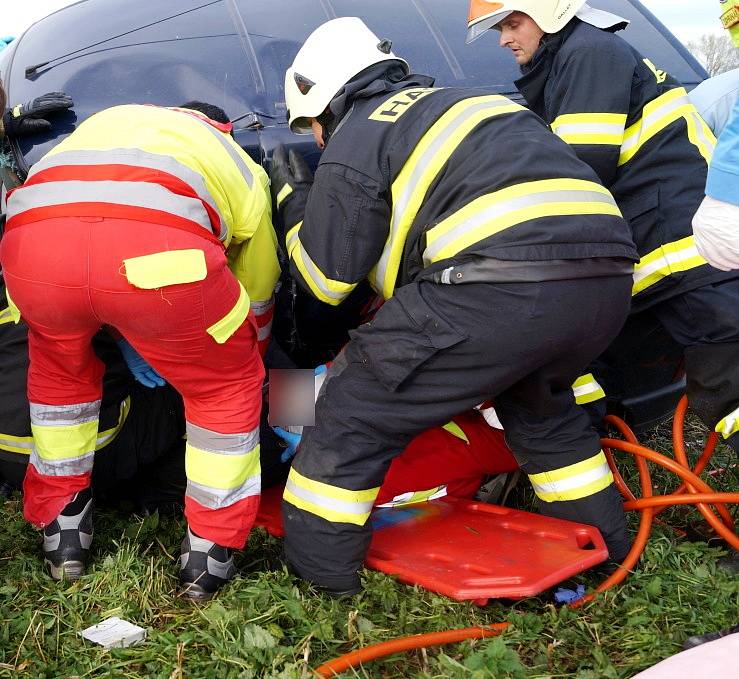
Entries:
[[715, 138], [680, 83], [614, 35], [627, 24], [582, 0], [472, 0], [468, 42], [500, 30], [531, 109], [613, 193], [641, 257], [632, 310], [685, 347], [691, 407], [739, 451], [739, 273], [711, 267], [691, 226]]

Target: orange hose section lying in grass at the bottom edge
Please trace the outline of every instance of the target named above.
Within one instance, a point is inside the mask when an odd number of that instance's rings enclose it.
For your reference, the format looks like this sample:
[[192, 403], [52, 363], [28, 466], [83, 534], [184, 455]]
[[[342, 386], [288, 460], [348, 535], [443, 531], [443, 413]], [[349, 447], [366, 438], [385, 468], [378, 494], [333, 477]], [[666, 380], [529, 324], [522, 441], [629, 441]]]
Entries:
[[430, 632], [429, 634], [414, 634], [410, 637], [400, 637], [383, 641], [379, 644], [371, 644], [357, 651], [352, 651], [334, 660], [321, 665], [314, 670], [319, 677], [334, 677], [351, 667], [356, 667], [370, 660], [383, 658], [386, 655], [410, 651], [414, 648], [426, 648], [428, 646], [441, 646], [442, 644], [453, 644], [465, 639], [485, 639], [498, 636], [510, 623], [500, 622], [486, 627], [465, 627], [464, 629], [448, 630], [445, 632]]

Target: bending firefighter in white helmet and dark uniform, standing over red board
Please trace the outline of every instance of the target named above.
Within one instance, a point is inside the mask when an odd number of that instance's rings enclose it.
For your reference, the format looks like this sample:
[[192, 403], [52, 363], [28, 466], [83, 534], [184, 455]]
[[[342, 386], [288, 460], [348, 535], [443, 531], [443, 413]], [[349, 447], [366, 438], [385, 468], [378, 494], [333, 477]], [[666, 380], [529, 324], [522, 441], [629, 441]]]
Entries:
[[273, 157], [291, 271], [328, 304], [365, 278], [387, 300], [330, 368], [285, 489], [288, 562], [334, 593], [359, 589], [393, 457], [489, 397], [542, 511], [600, 528], [615, 560], [629, 547], [572, 390], [628, 314], [628, 226], [537, 116], [432, 85], [357, 18], [320, 26], [285, 77], [291, 129], [325, 145], [315, 181]]

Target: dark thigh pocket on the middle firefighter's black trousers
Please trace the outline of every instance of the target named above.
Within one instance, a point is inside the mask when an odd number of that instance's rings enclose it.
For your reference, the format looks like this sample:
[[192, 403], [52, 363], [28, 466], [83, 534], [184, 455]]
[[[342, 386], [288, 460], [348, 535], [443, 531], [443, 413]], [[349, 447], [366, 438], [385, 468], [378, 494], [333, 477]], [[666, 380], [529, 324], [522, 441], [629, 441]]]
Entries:
[[398, 290], [370, 323], [350, 335], [362, 360], [388, 391], [399, 389], [434, 354], [466, 339], [426, 303], [418, 284]]

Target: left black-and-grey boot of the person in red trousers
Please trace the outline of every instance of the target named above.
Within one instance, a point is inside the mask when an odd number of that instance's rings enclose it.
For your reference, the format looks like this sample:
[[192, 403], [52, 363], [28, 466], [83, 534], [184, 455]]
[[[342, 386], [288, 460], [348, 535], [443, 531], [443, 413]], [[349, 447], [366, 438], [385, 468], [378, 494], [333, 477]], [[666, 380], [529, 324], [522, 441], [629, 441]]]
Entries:
[[92, 489], [77, 493], [44, 528], [44, 560], [54, 580], [77, 580], [85, 573], [92, 543]]

